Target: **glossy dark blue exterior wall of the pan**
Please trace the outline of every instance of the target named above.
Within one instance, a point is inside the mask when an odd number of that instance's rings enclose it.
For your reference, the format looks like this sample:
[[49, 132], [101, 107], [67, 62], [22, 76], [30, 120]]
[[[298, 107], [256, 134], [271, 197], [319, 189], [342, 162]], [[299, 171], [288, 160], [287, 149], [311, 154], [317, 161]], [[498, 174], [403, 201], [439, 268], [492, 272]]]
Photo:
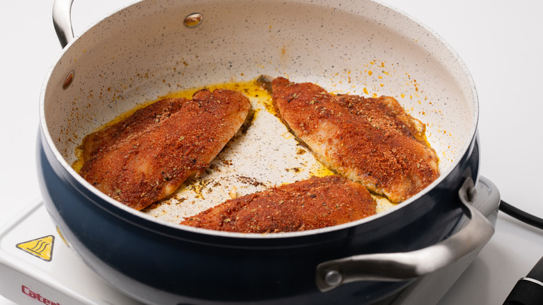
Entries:
[[448, 235], [462, 216], [457, 191], [478, 177], [475, 136], [455, 169], [418, 200], [372, 221], [313, 235], [252, 239], [175, 228], [104, 201], [38, 136], [43, 200], [70, 247], [106, 281], [155, 304], [371, 304], [407, 286], [361, 281], [329, 292], [315, 267], [363, 253], [411, 251]]

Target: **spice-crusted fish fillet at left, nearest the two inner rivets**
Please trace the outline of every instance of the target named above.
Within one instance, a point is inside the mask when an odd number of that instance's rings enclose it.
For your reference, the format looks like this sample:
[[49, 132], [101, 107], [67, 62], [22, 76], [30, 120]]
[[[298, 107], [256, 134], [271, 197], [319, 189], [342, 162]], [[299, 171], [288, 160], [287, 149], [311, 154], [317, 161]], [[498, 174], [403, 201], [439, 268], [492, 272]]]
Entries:
[[204, 171], [250, 107], [245, 95], [226, 89], [156, 102], [86, 136], [79, 173], [104, 194], [141, 210]]

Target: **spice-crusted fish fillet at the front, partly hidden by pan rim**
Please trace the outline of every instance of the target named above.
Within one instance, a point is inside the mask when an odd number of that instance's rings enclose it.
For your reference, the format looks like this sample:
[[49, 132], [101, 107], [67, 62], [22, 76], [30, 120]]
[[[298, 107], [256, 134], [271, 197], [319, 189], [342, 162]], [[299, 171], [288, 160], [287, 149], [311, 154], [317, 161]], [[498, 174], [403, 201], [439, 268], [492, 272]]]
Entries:
[[239, 233], [278, 233], [324, 228], [375, 214], [363, 186], [339, 175], [310, 178], [230, 199], [181, 224]]

